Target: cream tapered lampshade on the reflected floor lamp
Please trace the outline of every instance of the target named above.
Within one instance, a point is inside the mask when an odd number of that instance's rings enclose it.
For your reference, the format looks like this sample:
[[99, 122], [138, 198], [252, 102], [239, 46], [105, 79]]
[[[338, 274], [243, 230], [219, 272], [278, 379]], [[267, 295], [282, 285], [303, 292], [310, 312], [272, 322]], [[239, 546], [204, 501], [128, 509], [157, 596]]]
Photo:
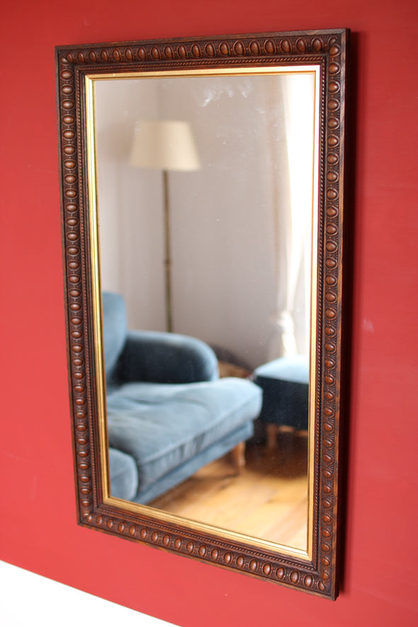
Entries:
[[180, 120], [138, 120], [130, 164], [138, 168], [162, 170], [200, 169], [190, 125]]

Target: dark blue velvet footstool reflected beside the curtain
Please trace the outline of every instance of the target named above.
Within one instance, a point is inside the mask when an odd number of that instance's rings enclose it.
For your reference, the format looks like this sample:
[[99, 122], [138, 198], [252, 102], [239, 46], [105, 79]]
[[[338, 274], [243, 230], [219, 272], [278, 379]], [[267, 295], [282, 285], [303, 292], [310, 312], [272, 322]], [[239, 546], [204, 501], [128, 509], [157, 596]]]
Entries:
[[254, 371], [254, 383], [263, 390], [260, 420], [266, 425], [267, 441], [273, 446], [275, 427], [307, 430], [309, 406], [309, 360], [306, 356], [281, 357]]

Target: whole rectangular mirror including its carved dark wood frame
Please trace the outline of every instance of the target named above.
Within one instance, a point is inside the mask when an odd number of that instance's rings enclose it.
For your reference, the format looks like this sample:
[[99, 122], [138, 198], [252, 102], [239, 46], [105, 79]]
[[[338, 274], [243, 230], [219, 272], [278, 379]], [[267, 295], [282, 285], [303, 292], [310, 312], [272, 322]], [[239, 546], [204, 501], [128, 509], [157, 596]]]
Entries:
[[346, 35], [57, 48], [79, 521], [332, 599]]

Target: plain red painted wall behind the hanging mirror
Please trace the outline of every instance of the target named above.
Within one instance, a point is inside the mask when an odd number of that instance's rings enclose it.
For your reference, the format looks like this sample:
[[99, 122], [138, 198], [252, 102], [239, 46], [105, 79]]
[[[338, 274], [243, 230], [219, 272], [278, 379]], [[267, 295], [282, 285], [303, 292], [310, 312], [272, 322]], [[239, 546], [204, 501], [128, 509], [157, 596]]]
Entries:
[[[417, 621], [416, 0], [4, 0], [0, 558], [188, 626]], [[54, 46], [347, 27], [355, 72], [346, 566], [335, 603], [76, 524]], [[51, 367], [52, 364], [52, 367]], [[416, 493], [416, 492], [415, 492]]]

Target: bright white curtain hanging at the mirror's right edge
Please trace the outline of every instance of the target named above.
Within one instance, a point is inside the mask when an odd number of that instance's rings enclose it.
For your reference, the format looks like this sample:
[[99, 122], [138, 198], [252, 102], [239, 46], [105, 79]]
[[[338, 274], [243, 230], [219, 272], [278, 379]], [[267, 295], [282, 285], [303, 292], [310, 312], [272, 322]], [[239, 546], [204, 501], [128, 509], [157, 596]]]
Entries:
[[285, 132], [271, 139], [272, 162], [281, 171], [272, 181], [277, 308], [270, 359], [309, 353], [314, 86], [312, 74], [292, 74], [277, 88]]

